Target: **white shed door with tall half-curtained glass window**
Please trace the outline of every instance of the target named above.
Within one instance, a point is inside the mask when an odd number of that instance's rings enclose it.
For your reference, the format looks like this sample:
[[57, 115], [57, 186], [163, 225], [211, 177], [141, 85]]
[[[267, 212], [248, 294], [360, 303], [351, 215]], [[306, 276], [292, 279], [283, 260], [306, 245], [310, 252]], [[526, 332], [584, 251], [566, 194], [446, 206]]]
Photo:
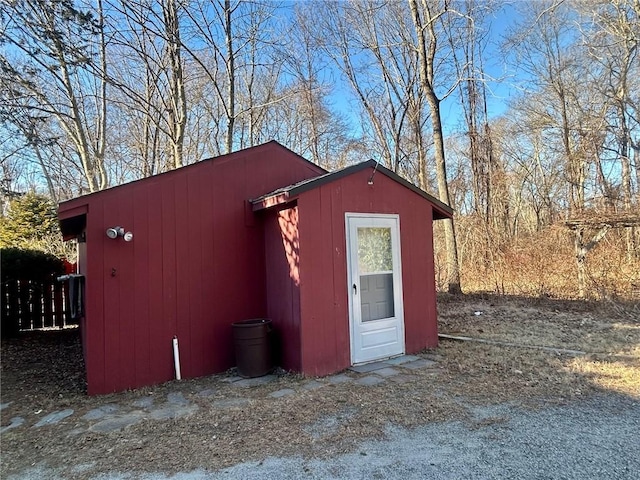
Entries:
[[346, 214], [351, 362], [404, 353], [398, 215]]

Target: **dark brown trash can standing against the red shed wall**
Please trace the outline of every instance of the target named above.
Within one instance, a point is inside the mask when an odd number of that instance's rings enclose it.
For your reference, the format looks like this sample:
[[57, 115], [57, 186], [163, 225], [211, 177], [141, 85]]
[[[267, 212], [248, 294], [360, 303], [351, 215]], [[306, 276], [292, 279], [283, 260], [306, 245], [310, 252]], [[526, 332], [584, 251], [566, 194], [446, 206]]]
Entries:
[[261, 377], [273, 369], [271, 320], [255, 318], [231, 324], [236, 366], [241, 377]]

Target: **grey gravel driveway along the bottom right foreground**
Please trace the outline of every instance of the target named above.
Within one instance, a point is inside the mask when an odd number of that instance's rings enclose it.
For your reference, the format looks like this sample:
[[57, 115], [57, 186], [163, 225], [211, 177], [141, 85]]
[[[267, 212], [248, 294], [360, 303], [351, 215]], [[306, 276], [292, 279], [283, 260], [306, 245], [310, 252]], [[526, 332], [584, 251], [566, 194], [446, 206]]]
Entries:
[[[129, 475], [99, 480], [204, 479], [618, 479], [640, 478], [640, 399], [599, 394], [537, 411], [515, 405], [471, 409], [465, 422], [413, 431], [390, 427], [382, 441], [331, 460], [267, 458], [219, 472]], [[82, 466], [78, 466], [78, 471]], [[20, 479], [60, 478], [33, 469]], [[7, 480], [9, 480], [7, 479]]]

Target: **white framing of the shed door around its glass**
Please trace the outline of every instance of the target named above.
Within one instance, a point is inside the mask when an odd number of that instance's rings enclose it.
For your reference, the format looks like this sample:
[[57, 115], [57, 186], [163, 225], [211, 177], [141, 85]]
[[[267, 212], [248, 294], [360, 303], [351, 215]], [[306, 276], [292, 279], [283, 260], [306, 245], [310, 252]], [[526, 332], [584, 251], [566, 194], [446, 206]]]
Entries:
[[[358, 227], [385, 227], [391, 229], [391, 252], [393, 260], [393, 299], [394, 315], [389, 319], [362, 322], [360, 304], [360, 274], [358, 273]], [[349, 335], [351, 347], [351, 364], [366, 363], [405, 353], [404, 305], [402, 294], [402, 256], [400, 252], [400, 216], [397, 214], [345, 213], [345, 233], [347, 251], [347, 297], [349, 300]], [[355, 285], [355, 289], [354, 289]], [[386, 323], [385, 323], [386, 322]], [[381, 348], [378, 356], [371, 356], [373, 350], [364, 353], [362, 350], [363, 328], [394, 329], [397, 342], [388, 348]]]

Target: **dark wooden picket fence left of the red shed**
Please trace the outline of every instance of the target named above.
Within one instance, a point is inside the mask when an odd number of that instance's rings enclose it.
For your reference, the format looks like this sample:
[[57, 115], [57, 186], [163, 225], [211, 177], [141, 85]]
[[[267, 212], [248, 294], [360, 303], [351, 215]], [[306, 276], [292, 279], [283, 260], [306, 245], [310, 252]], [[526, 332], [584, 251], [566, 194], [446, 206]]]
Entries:
[[67, 282], [7, 280], [2, 287], [2, 325], [5, 332], [78, 324], [69, 311]]

